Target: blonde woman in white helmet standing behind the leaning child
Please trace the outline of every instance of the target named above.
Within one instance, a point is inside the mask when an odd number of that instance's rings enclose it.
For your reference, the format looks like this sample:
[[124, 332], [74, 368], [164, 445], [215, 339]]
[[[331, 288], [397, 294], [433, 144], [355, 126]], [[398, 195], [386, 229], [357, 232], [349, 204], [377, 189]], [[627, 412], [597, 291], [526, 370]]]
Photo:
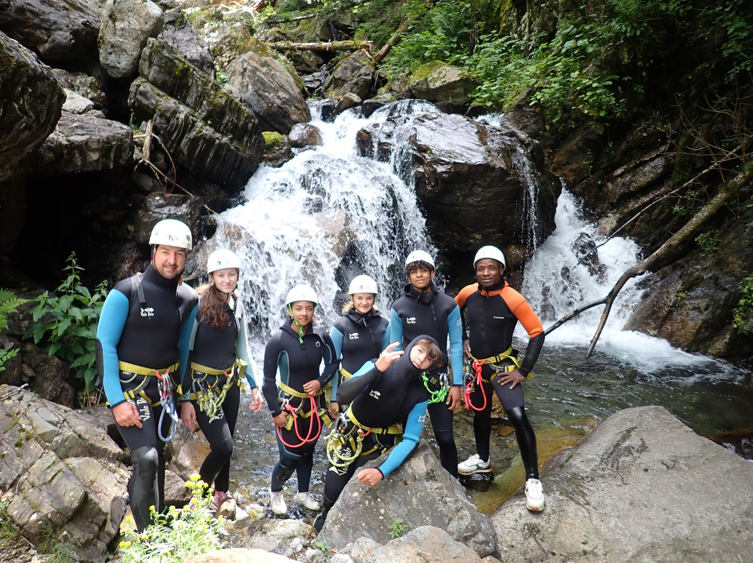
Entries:
[[[335, 321], [330, 338], [340, 360], [340, 374], [332, 379], [332, 398], [337, 386], [361, 369], [367, 361], [378, 358], [389, 345], [389, 321], [380, 315], [374, 301], [377, 282], [368, 275], [357, 275], [350, 282], [350, 301], [343, 307], [343, 316]], [[339, 405], [332, 403], [333, 412]]]

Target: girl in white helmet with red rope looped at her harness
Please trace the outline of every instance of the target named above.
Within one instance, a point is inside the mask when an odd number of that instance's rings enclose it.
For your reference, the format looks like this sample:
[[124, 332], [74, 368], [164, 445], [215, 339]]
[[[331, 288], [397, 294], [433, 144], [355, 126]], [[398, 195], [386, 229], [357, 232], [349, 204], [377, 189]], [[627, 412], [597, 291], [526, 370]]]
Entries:
[[[264, 350], [264, 399], [277, 429], [279, 461], [272, 470], [270, 508], [273, 513], [288, 510], [282, 485], [293, 471], [298, 478], [294, 500], [309, 510], [319, 502], [309, 493], [313, 452], [322, 432], [326, 401], [322, 389], [337, 371], [337, 355], [329, 335], [313, 327], [316, 291], [296, 285], [285, 303], [288, 318], [274, 333]], [[319, 365], [325, 367], [320, 373]], [[279, 371], [279, 385], [276, 373]]]

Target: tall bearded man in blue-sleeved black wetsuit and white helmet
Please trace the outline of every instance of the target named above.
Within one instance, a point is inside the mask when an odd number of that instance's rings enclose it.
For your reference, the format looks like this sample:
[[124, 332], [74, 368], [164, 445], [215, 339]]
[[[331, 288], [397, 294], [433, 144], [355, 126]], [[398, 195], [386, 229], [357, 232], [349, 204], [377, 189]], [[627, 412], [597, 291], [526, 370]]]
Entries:
[[97, 367], [120, 435], [131, 452], [128, 487], [136, 527], [151, 524], [149, 507], [163, 506], [165, 442], [177, 421], [173, 392], [184, 370], [198, 309], [181, 282], [191, 230], [175, 219], [154, 226], [151, 265], [115, 285], [97, 327]]

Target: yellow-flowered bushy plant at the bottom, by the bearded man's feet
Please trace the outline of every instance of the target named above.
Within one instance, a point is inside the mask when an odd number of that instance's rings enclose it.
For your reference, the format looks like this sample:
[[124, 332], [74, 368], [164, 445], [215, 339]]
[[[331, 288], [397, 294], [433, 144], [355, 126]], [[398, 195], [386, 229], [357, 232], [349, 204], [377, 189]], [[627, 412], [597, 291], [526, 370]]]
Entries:
[[169, 507], [167, 514], [157, 514], [152, 507], [154, 524], [136, 530], [133, 517], [125, 522], [126, 534], [117, 549], [122, 563], [180, 563], [191, 555], [201, 555], [222, 547], [226, 534], [221, 516], [212, 516], [212, 488], [192, 475], [186, 482], [193, 499], [189, 507]]

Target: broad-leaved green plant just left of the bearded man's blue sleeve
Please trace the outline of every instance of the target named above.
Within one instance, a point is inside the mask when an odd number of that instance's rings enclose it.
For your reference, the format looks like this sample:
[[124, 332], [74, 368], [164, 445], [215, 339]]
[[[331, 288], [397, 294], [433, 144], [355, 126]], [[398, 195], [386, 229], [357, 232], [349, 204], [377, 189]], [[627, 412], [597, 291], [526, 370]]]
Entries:
[[32, 300], [36, 305], [29, 313], [35, 324], [23, 337], [33, 338], [35, 344], [44, 339], [44, 351], [68, 361], [74, 376], [89, 392], [96, 380], [96, 324], [105, 304], [106, 288], [105, 282], [93, 292], [82, 285], [79, 272], [83, 269], [72, 252], [62, 270], [66, 278], [54, 293], [45, 291]]

